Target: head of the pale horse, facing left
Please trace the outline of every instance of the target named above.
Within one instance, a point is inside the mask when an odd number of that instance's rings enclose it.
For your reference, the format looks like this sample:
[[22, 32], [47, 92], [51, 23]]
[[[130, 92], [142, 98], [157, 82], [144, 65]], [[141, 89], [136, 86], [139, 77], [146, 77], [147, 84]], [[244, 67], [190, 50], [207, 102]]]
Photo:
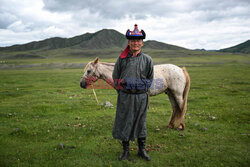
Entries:
[[98, 58], [95, 58], [94, 61], [89, 62], [85, 69], [84, 74], [80, 81], [80, 86], [84, 89], [88, 85], [91, 85], [93, 82], [96, 82], [100, 78], [100, 73], [98, 71]]

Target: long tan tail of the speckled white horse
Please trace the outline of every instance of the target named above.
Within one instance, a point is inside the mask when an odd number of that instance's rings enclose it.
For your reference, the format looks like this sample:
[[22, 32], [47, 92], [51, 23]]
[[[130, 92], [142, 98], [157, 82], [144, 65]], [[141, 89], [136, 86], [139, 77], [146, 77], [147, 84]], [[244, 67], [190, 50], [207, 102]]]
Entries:
[[183, 106], [182, 106], [182, 119], [184, 119], [184, 116], [187, 110], [188, 92], [190, 90], [190, 77], [185, 67], [183, 67], [182, 70], [186, 78], [186, 85], [183, 91]]

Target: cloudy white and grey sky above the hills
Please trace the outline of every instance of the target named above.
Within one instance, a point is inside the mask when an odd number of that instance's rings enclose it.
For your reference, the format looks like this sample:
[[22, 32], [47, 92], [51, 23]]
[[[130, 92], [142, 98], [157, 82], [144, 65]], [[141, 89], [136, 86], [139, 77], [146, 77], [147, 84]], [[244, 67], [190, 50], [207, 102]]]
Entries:
[[0, 47], [135, 23], [146, 40], [217, 50], [250, 39], [250, 0], [0, 0]]

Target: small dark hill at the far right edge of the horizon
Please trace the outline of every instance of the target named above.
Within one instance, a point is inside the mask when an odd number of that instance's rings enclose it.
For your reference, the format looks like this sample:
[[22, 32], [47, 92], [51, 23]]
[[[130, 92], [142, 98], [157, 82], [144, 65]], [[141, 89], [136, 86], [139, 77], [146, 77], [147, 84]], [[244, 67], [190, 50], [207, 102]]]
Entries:
[[220, 52], [231, 52], [231, 53], [250, 53], [250, 40], [240, 43], [236, 46], [221, 49]]

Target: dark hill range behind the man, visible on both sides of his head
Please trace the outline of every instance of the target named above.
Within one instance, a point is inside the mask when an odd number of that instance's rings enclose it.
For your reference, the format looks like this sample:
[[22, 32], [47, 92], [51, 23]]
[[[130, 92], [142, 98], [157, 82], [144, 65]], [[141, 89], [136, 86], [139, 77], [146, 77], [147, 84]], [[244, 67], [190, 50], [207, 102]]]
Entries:
[[[96, 33], [86, 33], [72, 38], [54, 37], [42, 41], [33, 41], [23, 45], [13, 45], [1, 47], [0, 51], [30, 51], [30, 50], [53, 50], [60, 48], [70, 49], [110, 49], [114, 47], [124, 48], [127, 39], [116, 30], [103, 29]], [[168, 49], [182, 50], [184, 48], [169, 45], [158, 41], [146, 41], [144, 48], [148, 49]]]

